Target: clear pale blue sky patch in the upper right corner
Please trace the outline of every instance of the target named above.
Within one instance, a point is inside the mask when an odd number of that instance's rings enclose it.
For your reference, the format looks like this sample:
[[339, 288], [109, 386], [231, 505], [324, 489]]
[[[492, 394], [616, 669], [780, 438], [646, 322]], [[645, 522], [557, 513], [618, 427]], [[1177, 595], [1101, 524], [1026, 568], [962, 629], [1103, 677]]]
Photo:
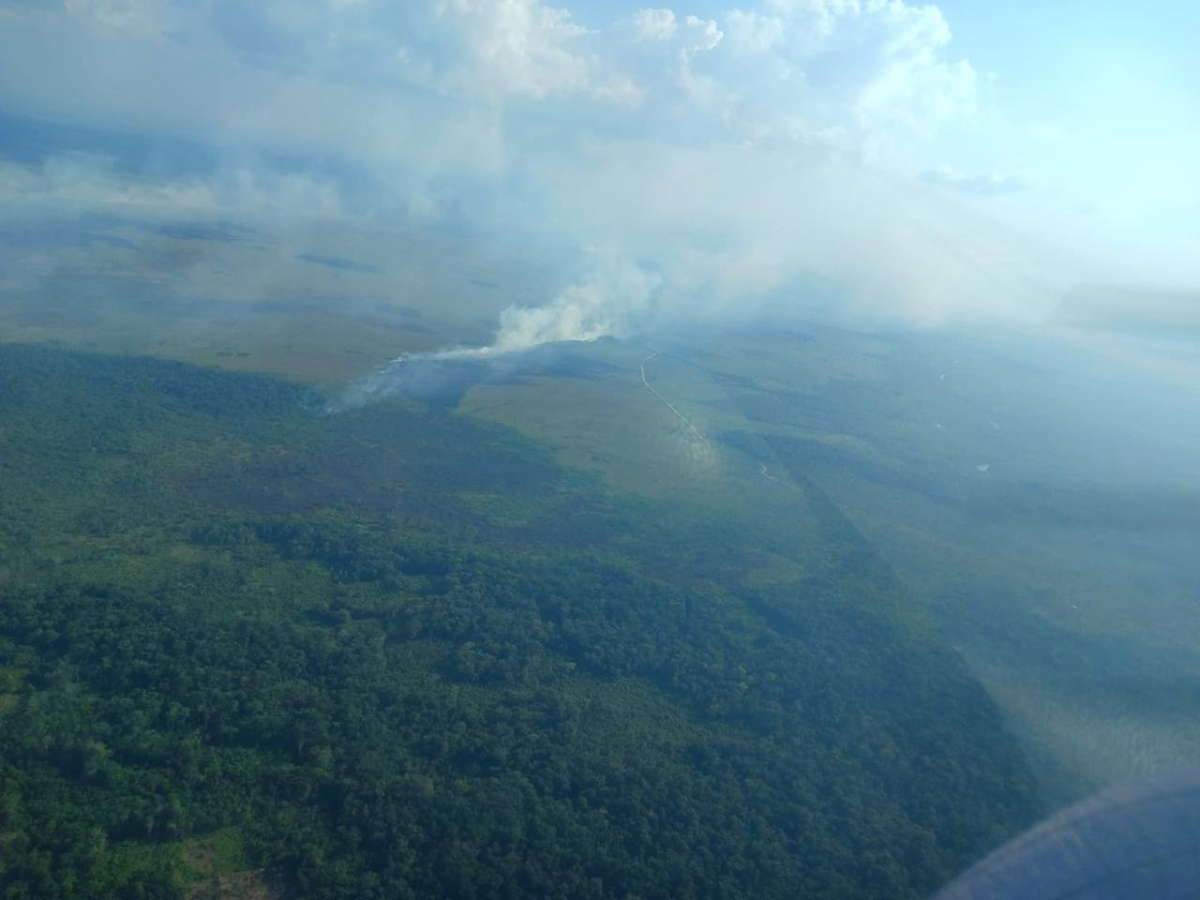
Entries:
[[[1188, 157], [1200, 137], [1200, 56], [1194, 48], [1200, 7], [1170, 0], [952, 0], [943, 10], [955, 23], [959, 50], [978, 71], [995, 73], [988, 92], [998, 109], [1057, 124], [1092, 145], [1092, 152], [1064, 162], [1087, 173], [1097, 193], [1104, 180], [1148, 175], [1128, 170], [1141, 160], [1162, 176], [1146, 178], [1144, 186], [1174, 185], [1156, 199], [1174, 194], [1195, 203], [1200, 182]], [[1127, 170], [1102, 169], [1120, 163]], [[1052, 158], [1026, 164], [1044, 166], [1051, 179], [1067, 168]], [[1190, 198], [1180, 197], [1188, 192]]]

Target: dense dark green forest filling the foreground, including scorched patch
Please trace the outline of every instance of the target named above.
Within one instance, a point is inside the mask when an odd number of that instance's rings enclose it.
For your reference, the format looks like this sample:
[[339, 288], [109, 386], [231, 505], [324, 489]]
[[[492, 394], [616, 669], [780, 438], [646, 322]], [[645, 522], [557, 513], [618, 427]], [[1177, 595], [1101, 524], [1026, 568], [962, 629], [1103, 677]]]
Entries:
[[0, 895], [928, 894], [1033, 782], [796, 475], [769, 578], [452, 412], [0, 347]]

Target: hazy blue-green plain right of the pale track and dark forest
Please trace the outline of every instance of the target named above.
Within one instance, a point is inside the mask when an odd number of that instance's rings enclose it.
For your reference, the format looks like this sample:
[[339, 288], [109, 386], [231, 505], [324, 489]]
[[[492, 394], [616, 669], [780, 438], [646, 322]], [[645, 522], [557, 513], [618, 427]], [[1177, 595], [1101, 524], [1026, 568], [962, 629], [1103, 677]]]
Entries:
[[[1013, 347], [898, 337], [866, 356], [857, 340], [740, 337], [680, 355], [700, 360], [692, 378], [702, 364], [728, 384], [737, 414], [712, 428], [722, 449], [820, 487], [926, 606], [1001, 704], [1049, 803], [1196, 764], [1200, 503], [1194, 454], [1175, 452], [1174, 426], [1144, 409], [1164, 401], [1079, 390], [1045, 356], [1014, 361]], [[834, 355], [862, 371], [814, 383]], [[810, 386], [770, 379], [784, 362]], [[1108, 407], [1087, 409], [1102, 394]], [[1145, 464], [1150, 446], [1160, 468]]]

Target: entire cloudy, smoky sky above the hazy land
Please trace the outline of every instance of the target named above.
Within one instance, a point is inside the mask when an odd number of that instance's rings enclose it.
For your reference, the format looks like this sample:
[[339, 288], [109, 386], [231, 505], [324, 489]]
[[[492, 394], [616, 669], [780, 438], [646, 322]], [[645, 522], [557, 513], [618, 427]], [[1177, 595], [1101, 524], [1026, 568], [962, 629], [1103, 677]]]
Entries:
[[0, 0], [0, 199], [577, 258], [499, 346], [781, 304], [1078, 326], [1093, 294], [1097, 322], [1194, 325], [1198, 25], [1166, 0]]

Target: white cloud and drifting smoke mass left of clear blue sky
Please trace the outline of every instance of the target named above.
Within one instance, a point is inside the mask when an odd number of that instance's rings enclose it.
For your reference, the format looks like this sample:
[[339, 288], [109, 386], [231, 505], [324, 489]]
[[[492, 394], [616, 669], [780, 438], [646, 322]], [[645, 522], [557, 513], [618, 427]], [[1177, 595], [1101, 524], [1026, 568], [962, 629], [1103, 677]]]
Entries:
[[[1024, 316], [1075, 272], [971, 210], [966, 193], [1015, 181], [935, 168], [953, 158], [938, 131], [977, 104], [936, 6], [761, 0], [584, 26], [540, 0], [264, 0], [224, 18], [216, 4], [77, 1], [74, 16], [10, 13], [0, 104], [335, 160], [370, 185], [372, 215], [451, 210], [593, 260], [599, 274], [546, 310], [508, 313], [500, 343], [727, 316], [811, 277], [907, 319]], [[65, 158], [6, 168], [0, 190], [287, 214], [364, 203], [340, 175], [250, 156], [173, 184]]]

